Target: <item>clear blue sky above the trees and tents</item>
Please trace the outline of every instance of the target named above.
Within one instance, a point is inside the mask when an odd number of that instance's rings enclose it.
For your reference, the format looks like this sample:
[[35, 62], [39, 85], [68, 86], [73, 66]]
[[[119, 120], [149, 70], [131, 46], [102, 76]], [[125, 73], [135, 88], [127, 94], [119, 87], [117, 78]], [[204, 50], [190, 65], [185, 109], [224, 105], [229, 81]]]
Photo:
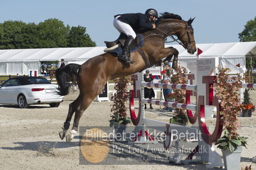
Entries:
[[86, 27], [92, 41], [102, 47], [105, 40], [119, 36], [113, 26], [114, 15], [155, 8], [158, 13], [178, 14], [183, 20], [196, 17], [192, 23], [196, 43], [225, 43], [239, 42], [238, 34], [256, 16], [255, 6], [255, 0], [1, 0], [0, 23], [21, 20], [38, 24], [56, 18], [65, 25]]

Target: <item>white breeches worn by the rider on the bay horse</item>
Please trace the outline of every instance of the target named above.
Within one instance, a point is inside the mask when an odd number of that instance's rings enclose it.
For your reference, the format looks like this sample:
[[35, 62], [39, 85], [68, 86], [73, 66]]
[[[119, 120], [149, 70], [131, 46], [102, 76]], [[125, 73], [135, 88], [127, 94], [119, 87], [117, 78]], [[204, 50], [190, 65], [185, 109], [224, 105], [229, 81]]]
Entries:
[[132, 27], [129, 24], [126, 24], [122, 22], [121, 20], [118, 20], [117, 16], [114, 19], [113, 25], [114, 27], [119, 31], [119, 33], [124, 33], [127, 36], [132, 36], [134, 39], [136, 38], [136, 33], [133, 31]]

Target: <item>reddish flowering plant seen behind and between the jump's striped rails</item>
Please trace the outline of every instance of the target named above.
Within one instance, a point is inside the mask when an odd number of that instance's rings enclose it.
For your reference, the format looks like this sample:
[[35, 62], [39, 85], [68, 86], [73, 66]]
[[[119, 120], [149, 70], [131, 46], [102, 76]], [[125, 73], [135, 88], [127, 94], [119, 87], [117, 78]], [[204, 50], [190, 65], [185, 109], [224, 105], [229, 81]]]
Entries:
[[[178, 66], [173, 77], [171, 77], [171, 82], [173, 84], [186, 84], [187, 83], [187, 70], [183, 66]], [[183, 89], [173, 89], [173, 93], [167, 96], [172, 102], [178, 102], [185, 104], [185, 90]], [[188, 118], [184, 110], [175, 108], [175, 116], [169, 120], [169, 123], [177, 125], [187, 125]]]

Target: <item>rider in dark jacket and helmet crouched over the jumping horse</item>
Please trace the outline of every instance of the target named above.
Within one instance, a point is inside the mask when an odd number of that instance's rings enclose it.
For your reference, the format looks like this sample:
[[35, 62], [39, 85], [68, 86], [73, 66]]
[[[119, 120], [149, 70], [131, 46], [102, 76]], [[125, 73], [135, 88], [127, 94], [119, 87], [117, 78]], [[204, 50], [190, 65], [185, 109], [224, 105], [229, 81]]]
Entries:
[[156, 10], [150, 8], [143, 13], [125, 13], [114, 16], [114, 27], [119, 33], [124, 33], [128, 38], [124, 42], [123, 54], [119, 55], [119, 59], [126, 63], [133, 63], [130, 60], [130, 47], [136, 38], [133, 29], [155, 29], [155, 21], [158, 17]]

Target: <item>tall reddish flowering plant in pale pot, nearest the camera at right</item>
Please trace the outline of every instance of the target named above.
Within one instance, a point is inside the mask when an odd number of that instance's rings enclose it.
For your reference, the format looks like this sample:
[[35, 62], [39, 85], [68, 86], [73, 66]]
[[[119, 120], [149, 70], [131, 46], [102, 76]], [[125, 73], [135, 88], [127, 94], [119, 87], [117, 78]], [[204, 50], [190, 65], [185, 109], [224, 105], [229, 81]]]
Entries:
[[242, 81], [239, 75], [232, 77], [232, 82], [226, 81], [229, 79], [227, 72], [228, 68], [219, 70], [216, 81], [216, 97], [221, 101], [221, 123], [224, 127], [224, 135], [216, 144], [223, 152], [225, 169], [239, 169], [242, 146], [246, 147], [246, 139], [237, 132], [238, 116], [241, 111], [238, 91]]

